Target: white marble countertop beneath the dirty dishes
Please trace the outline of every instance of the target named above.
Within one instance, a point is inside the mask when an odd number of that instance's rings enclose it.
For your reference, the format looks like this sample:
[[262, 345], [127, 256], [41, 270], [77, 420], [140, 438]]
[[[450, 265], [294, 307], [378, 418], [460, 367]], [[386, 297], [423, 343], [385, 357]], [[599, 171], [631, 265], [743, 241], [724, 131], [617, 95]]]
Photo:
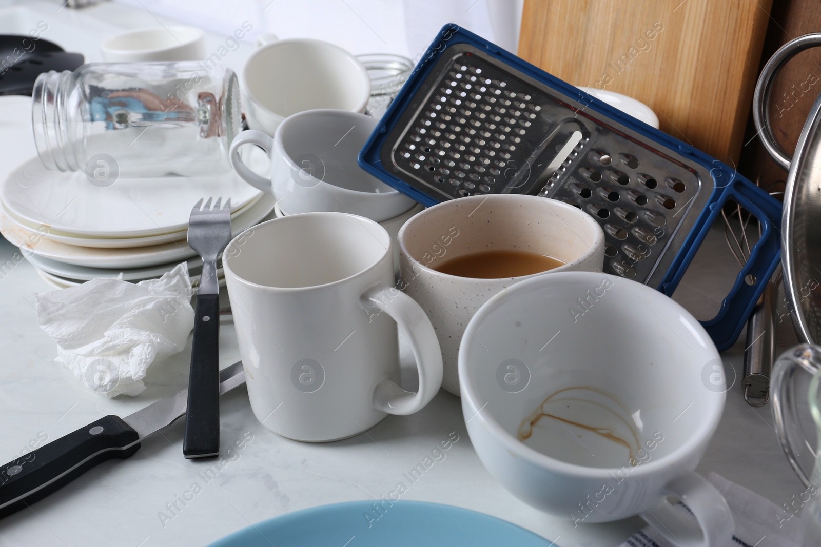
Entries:
[[[116, 11], [110, 6], [105, 9]], [[127, 20], [120, 11], [114, 16]], [[3, 176], [34, 153], [27, 114], [21, 117], [14, 113], [21, 107], [20, 100], [0, 98]], [[0, 239], [0, 266], [15, 252], [16, 248]], [[708, 317], [707, 303], [711, 298], [714, 304], [718, 302], [715, 297], [733, 268], [732, 256], [720, 233], [714, 231], [676, 299], [697, 317]], [[56, 346], [37, 326], [32, 294], [48, 289], [28, 262], [0, 269], [2, 462], [18, 457], [27, 446], [55, 440], [106, 414], [125, 416], [187, 385], [190, 347], [154, 362], [145, 378], [148, 389], [138, 397], [105, 399], [87, 390], [66, 367], [53, 361]], [[779, 328], [782, 346], [791, 344], [794, 337], [788, 319]], [[738, 379], [744, 347], [742, 334], [741, 340], [722, 355]], [[220, 356], [222, 366], [239, 358], [230, 321], [222, 322]], [[403, 473], [454, 431], [458, 441], [446, 453], [447, 458], [410, 485], [402, 499], [475, 509], [557, 540], [557, 545], [564, 547], [619, 545], [644, 526], [639, 518], [632, 518], [573, 528], [571, 523], [539, 513], [508, 494], [471, 447], [459, 399], [444, 391], [420, 413], [388, 416], [368, 435], [331, 444], [302, 444], [266, 430], [251, 413], [244, 386], [222, 397], [221, 410], [223, 456], [228, 448], [235, 448], [232, 458], [223, 461], [224, 467], [218, 466], [205, 476], [217, 461], [184, 459], [183, 423], [178, 421], [144, 442], [132, 458], [103, 463], [56, 494], [0, 520], [0, 547], [207, 545], [283, 513], [387, 495], [402, 481]], [[787, 503], [804, 489], [783, 457], [772, 422], [769, 406], [747, 406], [736, 381], [727, 394], [722, 422], [697, 471], [704, 475], [718, 472], [778, 505]], [[235, 443], [241, 440], [247, 442], [236, 449]], [[185, 505], [177, 501], [177, 496], [191, 490], [194, 483], [201, 487], [194, 499]]]

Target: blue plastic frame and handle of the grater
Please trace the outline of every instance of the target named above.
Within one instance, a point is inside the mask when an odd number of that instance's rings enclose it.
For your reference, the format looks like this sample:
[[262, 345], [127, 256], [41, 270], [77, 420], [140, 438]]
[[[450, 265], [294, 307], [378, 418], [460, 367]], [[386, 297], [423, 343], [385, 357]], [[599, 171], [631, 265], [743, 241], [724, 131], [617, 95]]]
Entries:
[[[392, 166], [383, 165], [380, 156], [383, 147], [391, 145], [389, 136], [392, 130], [397, 127], [401, 117], [414, 100], [415, 94], [433, 71], [433, 67], [449, 48], [462, 43], [481, 49], [488, 57], [529, 76], [561, 95], [576, 99], [584, 107], [576, 108], [570, 105], [575, 112], [585, 110], [586, 115], [598, 115], [602, 120], [615, 121], [645, 139], [653, 141], [658, 147], [672, 150], [686, 157], [691, 164], [709, 171], [713, 191], [656, 287], [663, 294], [672, 295], [711, 226], [721, 214], [722, 206], [727, 199], [735, 200], [760, 221], [761, 238], [752, 248], [749, 260], [736, 276], [735, 283], [723, 299], [721, 308], [709, 321], [701, 321], [719, 350], [732, 346], [780, 261], [782, 204], [734, 169], [719, 162], [718, 159], [603, 103], [468, 30], [453, 24], [443, 26], [362, 149], [359, 156], [360, 166], [379, 180], [383, 180], [424, 205], [431, 206], [439, 203], [440, 200], [433, 194], [425, 193], [399, 178]], [[695, 214], [695, 212], [690, 212], [690, 214]], [[745, 280], [754, 280], [754, 282], [750, 284]]]

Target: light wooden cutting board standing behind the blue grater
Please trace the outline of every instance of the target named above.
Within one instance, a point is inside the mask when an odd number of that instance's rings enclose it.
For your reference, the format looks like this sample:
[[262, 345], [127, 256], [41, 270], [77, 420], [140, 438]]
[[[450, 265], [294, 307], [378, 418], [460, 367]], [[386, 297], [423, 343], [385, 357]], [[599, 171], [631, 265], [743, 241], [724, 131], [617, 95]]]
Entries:
[[519, 55], [737, 164], [772, 0], [525, 0]]

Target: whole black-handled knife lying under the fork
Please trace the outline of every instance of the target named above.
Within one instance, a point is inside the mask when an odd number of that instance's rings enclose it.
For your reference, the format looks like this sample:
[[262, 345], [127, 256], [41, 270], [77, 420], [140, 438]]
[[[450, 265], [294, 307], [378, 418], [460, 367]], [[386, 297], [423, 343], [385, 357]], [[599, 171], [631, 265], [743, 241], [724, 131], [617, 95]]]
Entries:
[[[242, 362], [219, 372], [219, 394], [245, 383]], [[185, 415], [188, 389], [121, 418], [110, 414], [0, 467], [0, 518], [43, 499], [98, 463], [130, 458], [140, 441]]]

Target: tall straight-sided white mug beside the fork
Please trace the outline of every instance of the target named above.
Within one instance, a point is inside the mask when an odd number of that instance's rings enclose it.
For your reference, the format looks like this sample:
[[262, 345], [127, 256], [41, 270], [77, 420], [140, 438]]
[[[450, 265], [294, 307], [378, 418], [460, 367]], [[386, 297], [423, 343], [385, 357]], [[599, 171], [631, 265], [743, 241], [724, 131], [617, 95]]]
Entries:
[[[382, 226], [339, 212], [277, 218], [222, 255], [251, 408], [271, 431], [323, 442], [423, 408], [442, 383], [433, 326], [394, 287]], [[397, 324], [419, 390], [402, 390]]]

